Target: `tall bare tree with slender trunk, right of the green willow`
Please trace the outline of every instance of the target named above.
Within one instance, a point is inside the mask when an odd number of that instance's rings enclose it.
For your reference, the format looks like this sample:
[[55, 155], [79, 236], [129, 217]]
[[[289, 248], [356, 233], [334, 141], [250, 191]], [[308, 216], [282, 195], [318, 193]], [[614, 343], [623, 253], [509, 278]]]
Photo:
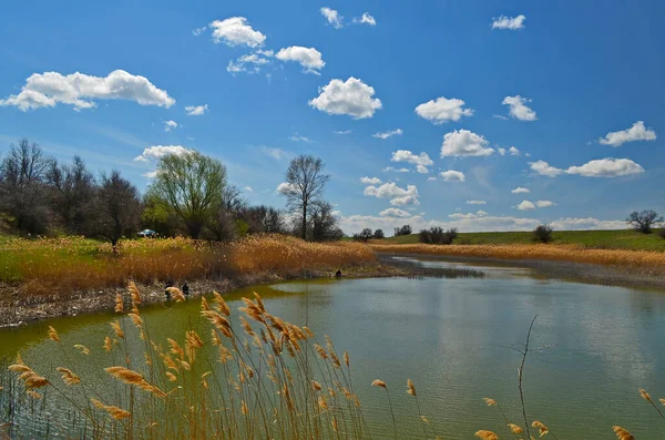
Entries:
[[299, 218], [299, 232], [307, 239], [309, 207], [320, 202], [330, 176], [324, 174], [324, 162], [311, 155], [300, 154], [286, 171], [286, 184], [280, 193], [286, 196], [287, 208]]

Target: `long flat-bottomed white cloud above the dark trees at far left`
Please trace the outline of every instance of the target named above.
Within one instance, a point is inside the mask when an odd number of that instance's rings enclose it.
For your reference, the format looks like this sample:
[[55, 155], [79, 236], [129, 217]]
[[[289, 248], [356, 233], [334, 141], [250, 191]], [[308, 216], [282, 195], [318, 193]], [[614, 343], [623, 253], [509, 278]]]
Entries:
[[166, 109], [175, 104], [165, 90], [157, 89], [147, 78], [115, 70], [104, 78], [79, 72], [69, 75], [58, 72], [33, 73], [25, 80], [21, 92], [0, 100], [0, 106], [16, 105], [25, 112], [63, 103], [79, 111], [95, 108], [93, 100], [126, 100]]

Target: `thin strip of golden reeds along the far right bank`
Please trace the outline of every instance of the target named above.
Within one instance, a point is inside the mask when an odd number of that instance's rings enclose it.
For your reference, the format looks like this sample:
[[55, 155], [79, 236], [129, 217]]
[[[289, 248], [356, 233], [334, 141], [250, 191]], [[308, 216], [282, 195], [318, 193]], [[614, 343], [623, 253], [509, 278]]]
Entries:
[[575, 245], [382, 245], [370, 244], [379, 253], [429, 254], [457, 257], [501, 259], [548, 259], [590, 263], [603, 266], [623, 266], [665, 270], [665, 253], [657, 250], [593, 249]]

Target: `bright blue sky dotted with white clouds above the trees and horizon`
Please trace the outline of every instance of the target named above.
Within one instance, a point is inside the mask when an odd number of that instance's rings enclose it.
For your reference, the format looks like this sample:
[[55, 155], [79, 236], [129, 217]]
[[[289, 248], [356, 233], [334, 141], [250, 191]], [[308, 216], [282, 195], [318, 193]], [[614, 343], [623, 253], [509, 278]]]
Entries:
[[278, 207], [288, 161], [314, 154], [347, 233], [616, 228], [665, 211], [659, 1], [1, 11], [0, 153], [29, 137], [144, 191], [160, 154], [196, 149]]

